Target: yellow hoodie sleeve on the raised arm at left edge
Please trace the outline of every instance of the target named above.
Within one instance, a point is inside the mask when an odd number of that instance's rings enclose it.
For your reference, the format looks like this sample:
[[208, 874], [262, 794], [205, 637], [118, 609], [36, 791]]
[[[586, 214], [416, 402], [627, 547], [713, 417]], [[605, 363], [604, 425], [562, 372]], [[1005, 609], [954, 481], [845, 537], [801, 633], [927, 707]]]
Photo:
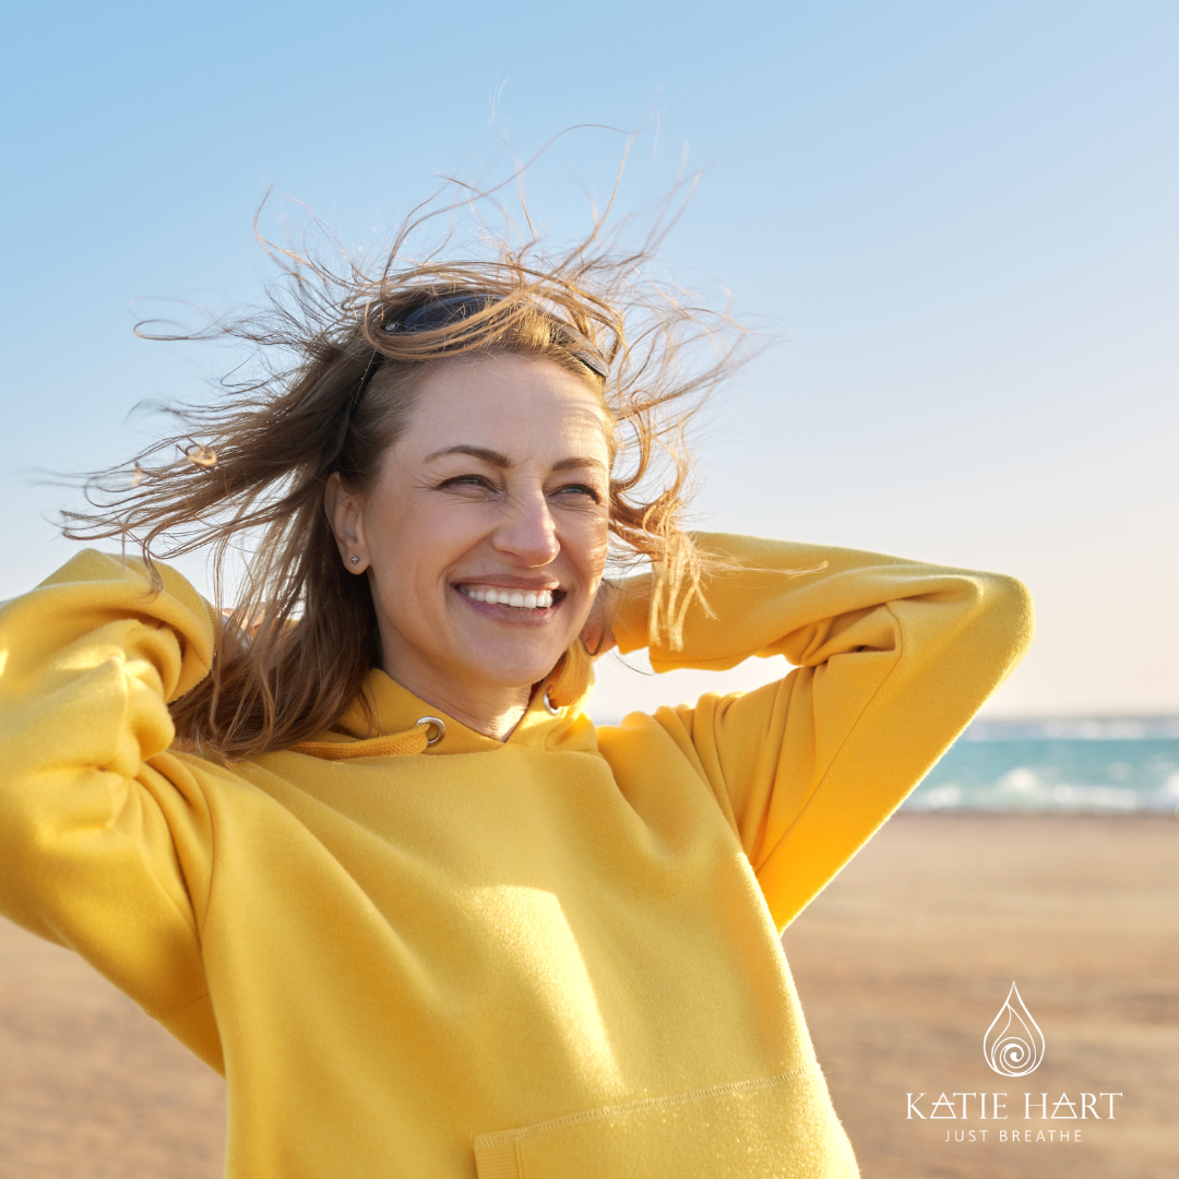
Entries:
[[0, 913], [70, 947], [213, 1067], [206, 801], [167, 703], [217, 620], [171, 569], [78, 554], [0, 608]]

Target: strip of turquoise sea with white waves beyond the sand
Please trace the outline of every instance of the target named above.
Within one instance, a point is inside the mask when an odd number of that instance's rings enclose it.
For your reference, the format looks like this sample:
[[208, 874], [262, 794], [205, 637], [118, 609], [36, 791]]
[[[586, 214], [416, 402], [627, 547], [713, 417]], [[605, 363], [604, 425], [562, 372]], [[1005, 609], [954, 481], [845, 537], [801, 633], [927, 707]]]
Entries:
[[1179, 814], [1179, 717], [976, 720], [902, 809]]

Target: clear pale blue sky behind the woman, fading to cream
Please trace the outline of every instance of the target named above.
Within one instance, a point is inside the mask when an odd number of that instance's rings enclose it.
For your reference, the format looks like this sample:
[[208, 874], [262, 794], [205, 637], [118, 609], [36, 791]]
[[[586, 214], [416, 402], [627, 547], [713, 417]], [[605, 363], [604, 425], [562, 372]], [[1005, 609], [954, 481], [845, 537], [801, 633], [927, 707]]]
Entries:
[[[1039, 639], [994, 712], [1179, 711], [1177, 58], [1167, 4], [9, 9], [0, 597], [68, 551], [29, 470], [200, 391], [218, 357], [131, 304], [255, 297], [269, 186], [365, 242], [468, 156], [646, 123], [632, 208], [706, 169], [668, 269], [786, 337], [704, 423], [697, 521], [1022, 577]], [[535, 169], [555, 238], [621, 147]], [[606, 670], [599, 709], [711, 686]]]

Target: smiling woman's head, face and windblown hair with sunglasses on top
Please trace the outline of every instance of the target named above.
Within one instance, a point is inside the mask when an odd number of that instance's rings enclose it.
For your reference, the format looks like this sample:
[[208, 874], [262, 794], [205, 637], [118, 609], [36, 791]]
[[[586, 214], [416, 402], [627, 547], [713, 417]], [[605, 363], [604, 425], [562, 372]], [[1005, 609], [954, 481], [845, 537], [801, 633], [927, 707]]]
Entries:
[[[95, 476], [91, 509], [66, 514], [77, 539], [138, 541], [157, 587], [157, 558], [211, 548], [218, 594], [225, 553], [262, 529], [235, 604], [222, 611], [231, 625], [215, 635], [210, 676], [171, 702], [178, 738], [193, 751], [286, 749], [330, 727], [354, 700], [369, 707], [374, 652], [386, 671], [396, 660], [399, 683], [430, 683], [435, 694], [446, 684], [439, 707], [453, 704], [479, 731], [506, 737], [544, 673], [533, 657], [552, 654], [551, 670], [591, 612], [599, 653], [606, 592], [593, 607], [607, 556], [661, 571], [651, 624], [673, 641], [703, 567], [724, 564], [679, 523], [681, 430], [735, 364], [732, 324], [641, 281], [641, 255], [612, 256], [597, 231], [555, 259], [532, 257], [531, 243], [485, 262], [399, 268], [406, 233], [375, 278], [277, 255], [289, 282], [272, 290], [271, 312], [218, 321], [211, 334], [285, 349], [294, 363], [230, 386], [218, 404], [183, 407], [184, 434], [138, 455], [133, 473]], [[700, 342], [713, 356], [685, 368]], [[670, 465], [661, 482], [659, 459]], [[472, 529], [487, 532], [482, 555], [467, 555], [496, 577], [479, 584], [553, 593], [552, 613], [529, 624], [535, 633], [502, 611], [495, 625], [461, 637], [449, 628], [476, 618], [452, 612], [440, 628], [443, 602], [470, 607], [452, 601], [456, 584], [428, 602], [417, 580], [426, 558], [401, 541], [414, 526], [416, 541], [429, 536], [441, 548], [460, 519], [472, 545]], [[527, 554], [493, 556], [502, 542], [521, 542], [521, 528], [553, 533], [544, 544], [555, 542], [552, 560], [568, 585], [547, 584], [549, 561], [534, 569]], [[565, 545], [558, 533], [569, 529], [577, 542]], [[538, 544], [521, 539], [526, 549]], [[492, 635], [495, 659], [488, 650], [477, 672], [460, 673], [454, 653], [467, 667]], [[439, 646], [448, 643], [449, 658]], [[502, 660], [529, 661], [534, 674], [507, 685]]]

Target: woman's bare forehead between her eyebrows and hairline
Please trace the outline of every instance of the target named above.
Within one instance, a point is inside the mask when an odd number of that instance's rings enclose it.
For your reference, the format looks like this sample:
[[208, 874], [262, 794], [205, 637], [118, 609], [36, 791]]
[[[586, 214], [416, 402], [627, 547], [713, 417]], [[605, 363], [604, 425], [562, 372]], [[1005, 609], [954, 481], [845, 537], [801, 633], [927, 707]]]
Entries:
[[571, 454], [608, 466], [611, 426], [598, 393], [552, 361], [492, 353], [432, 365], [402, 437], [419, 457], [454, 444], [488, 447], [513, 462]]

